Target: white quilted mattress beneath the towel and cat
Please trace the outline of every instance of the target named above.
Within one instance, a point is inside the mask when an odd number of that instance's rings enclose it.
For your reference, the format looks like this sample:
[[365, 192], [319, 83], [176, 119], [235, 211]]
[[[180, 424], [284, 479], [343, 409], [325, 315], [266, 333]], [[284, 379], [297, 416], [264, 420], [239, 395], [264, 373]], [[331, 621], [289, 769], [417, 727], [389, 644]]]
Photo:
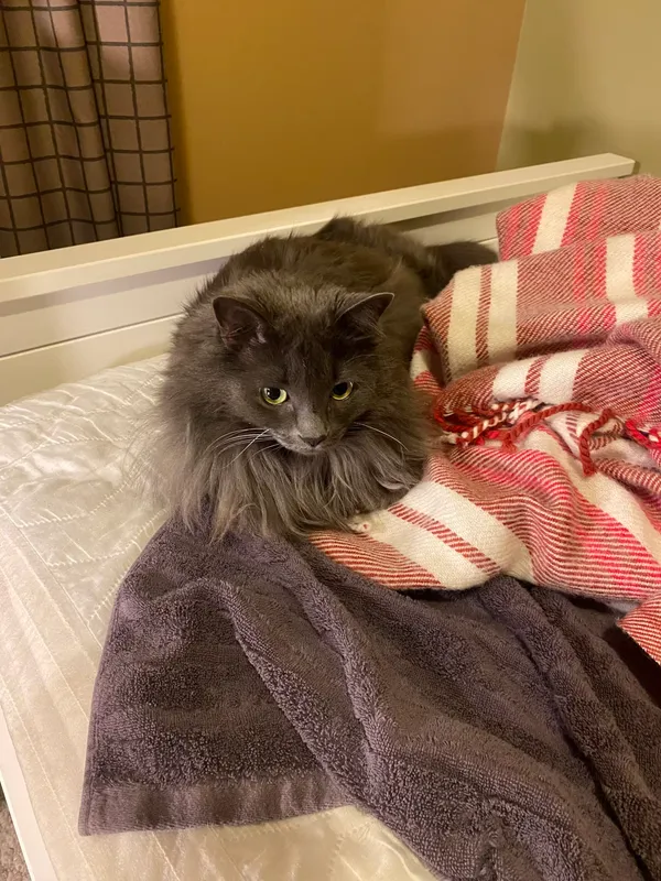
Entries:
[[354, 808], [242, 828], [78, 836], [89, 706], [112, 601], [163, 516], [127, 468], [159, 363], [0, 409], [0, 777], [33, 878], [430, 879]]

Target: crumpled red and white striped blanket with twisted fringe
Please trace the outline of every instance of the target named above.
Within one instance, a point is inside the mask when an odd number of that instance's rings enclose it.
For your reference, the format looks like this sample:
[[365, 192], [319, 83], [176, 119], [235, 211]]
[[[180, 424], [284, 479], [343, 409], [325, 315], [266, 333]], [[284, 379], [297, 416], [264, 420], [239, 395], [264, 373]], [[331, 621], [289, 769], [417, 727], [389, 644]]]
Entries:
[[661, 662], [661, 181], [581, 183], [498, 218], [501, 261], [426, 308], [413, 358], [440, 432], [422, 483], [314, 541], [397, 589], [497, 573], [633, 600]]

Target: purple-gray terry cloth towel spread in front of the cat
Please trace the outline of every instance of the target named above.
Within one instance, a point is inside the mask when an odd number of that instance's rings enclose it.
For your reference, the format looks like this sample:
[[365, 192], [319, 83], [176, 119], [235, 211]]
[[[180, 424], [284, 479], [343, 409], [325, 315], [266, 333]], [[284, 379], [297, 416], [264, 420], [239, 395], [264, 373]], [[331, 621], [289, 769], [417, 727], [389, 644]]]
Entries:
[[80, 830], [353, 804], [453, 881], [661, 879], [658, 667], [614, 620], [502, 577], [411, 598], [172, 521], [117, 598]]

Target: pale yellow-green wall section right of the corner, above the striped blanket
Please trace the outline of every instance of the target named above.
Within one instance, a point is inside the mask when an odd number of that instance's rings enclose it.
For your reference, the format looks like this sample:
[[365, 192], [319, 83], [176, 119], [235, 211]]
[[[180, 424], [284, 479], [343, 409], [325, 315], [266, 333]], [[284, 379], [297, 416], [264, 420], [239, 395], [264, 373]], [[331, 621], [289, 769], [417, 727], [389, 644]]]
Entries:
[[528, 0], [499, 166], [624, 153], [661, 174], [660, 0]]

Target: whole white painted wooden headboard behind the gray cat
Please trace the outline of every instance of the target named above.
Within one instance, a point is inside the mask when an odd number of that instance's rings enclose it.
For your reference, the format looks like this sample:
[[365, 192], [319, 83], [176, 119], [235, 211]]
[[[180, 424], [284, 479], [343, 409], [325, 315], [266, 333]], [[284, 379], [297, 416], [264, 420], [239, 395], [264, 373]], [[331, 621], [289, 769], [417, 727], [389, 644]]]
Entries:
[[491, 242], [506, 205], [633, 167], [606, 153], [0, 260], [0, 404], [163, 352], [201, 282], [267, 233], [313, 232], [343, 214], [429, 244]]

